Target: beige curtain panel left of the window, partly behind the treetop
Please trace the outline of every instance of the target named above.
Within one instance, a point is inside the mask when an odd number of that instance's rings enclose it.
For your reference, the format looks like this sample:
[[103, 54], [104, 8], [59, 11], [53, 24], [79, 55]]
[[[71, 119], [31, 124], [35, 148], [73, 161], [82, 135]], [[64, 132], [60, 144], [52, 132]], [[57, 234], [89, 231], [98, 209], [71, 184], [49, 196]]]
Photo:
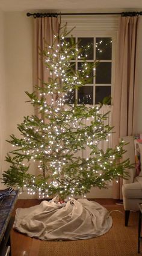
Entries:
[[[47, 45], [52, 45], [54, 35], [58, 33], [58, 18], [45, 17], [34, 19], [34, 42], [33, 42], [33, 80], [34, 85], [43, 86], [48, 82], [49, 71], [45, 67], [44, 58], [40, 51], [45, 50]], [[35, 88], [34, 88], [35, 90]], [[36, 91], [38, 96], [38, 91]], [[36, 114], [37, 111], [36, 111]]]

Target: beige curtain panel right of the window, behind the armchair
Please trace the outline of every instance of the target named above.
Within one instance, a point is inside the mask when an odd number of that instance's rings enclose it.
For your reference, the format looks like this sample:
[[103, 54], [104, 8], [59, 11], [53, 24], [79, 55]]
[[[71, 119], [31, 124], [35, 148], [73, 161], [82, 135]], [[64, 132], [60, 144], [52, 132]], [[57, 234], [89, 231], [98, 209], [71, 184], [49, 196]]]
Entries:
[[[121, 17], [116, 54], [116, 82], [114, 87], [113, 146], [119, 138], [133, 133], [135, 90], [135, 62], [139, 17]], [[122, 199], [122, 179], [114, 181], [113, 197]]]

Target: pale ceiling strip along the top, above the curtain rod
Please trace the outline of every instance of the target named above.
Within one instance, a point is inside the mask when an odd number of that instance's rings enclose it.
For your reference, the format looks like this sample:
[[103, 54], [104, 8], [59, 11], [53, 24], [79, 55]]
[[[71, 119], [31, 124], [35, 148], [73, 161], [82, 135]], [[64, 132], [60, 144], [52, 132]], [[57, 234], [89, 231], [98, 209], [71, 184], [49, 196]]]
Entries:
[[140, 10], [142, 0], [0, 0], [3, 11], [64, 10], [74, 12]]

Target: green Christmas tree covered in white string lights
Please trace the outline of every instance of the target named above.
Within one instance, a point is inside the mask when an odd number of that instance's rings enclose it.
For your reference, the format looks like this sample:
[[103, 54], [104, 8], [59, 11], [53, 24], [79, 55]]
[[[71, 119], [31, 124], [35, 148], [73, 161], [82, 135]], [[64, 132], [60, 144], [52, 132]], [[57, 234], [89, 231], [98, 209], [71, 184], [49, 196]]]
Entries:
[[[24, 117], [23, 123], [17, 125], [21, 137], [11, 135], [8, 140], [14, 149], [7, 154], [10, 167], [3, 174], [3, 182], [26, 189], [29, 194], [38, 192], [42, 198], [55, 194], [62, 199], [85, 195], [92, 186], [104, 188], [110, 180], [126, 176], [125, 169], [131, 168], [129, 159], [119, 161], [125, 153], [125, 142], [106, 152], [98, 147], [112, 133], [112, 127], [103, 124], [108, 113], [99, 113], [102, 105], [88, 107], [76, 100], [70, 103], [75, 90], [90, 79], [97, 62], [86, 62], [73, 38], [69, 41], [67, 36], [65, 26], [55, 36], [53, 45], [47, 45], [42, 53], [50, 72], [48, 81], [42, 87], [36, 86], [33, 93], [26, 92], [39, 116]], [[79, 70], [72, 64], [76, 57], [82, 57]], [[91, 117], [86, 126], [84, 120]], [[91, 152], [87, 159], [78, 156], [79, 151], [87, 148]], [[37, 162], [37, 176], [28, 172], [31, 161]]]

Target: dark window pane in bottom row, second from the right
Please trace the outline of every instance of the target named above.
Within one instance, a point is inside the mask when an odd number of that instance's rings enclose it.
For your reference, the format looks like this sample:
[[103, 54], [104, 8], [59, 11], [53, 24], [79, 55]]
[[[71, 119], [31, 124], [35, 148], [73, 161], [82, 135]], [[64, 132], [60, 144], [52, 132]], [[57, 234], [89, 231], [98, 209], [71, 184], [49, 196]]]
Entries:
[[78, 90], [78, 104], [93, 104], [93, 86], [83, 86]]

